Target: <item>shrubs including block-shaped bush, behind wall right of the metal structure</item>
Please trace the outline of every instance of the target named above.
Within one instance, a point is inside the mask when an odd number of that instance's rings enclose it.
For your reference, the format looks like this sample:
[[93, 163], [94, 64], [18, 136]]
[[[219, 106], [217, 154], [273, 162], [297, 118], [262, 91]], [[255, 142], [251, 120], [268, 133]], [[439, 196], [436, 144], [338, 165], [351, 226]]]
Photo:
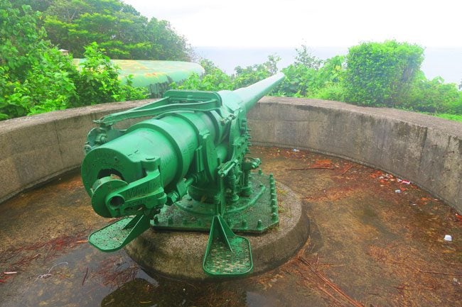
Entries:
[[[348, 55], [321, 60], [302, 45], [296, 49], [294, 63], [281, 69], [286, 75], [272, 92], [275, 96], [306, 97], [345, 101], [362, 106], [404, 108], [441, 117], [462, 116], [462, 84], [445, 84], [440, 77], [426, 79], [420, 70], [423, 48], [408, 43], [362, 43]], [[236, 67], [227, 76], [208, 60], [205, 75], [191, 77], [181, 89], [237, 89], [278, 71], [279, 57], [270, 55], [259, 65]], [[207, 68], [211, 67], [211, 68]]]

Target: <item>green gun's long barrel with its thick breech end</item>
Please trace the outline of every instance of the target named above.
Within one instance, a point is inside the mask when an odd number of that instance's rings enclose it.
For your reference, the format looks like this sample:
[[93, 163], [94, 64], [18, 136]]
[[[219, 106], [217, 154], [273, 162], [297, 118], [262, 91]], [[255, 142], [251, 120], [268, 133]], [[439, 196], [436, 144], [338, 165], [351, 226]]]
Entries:
[[[88, 135], [88, 152], [82, 162], [82, 181], [92, 196], [95, 211], [106, 217], [133, 214], [134, 211], [124, 209], [129, 201], [133, 203], [130, 208], [138, 208], [140, 204], [146, 206], [146, 202], [156, 203], [152, 195], [158, 193], [157, 188], [183, 191], [187, 174], [214, 179], [221, 163], [235, 159], [234, 155], [245, 155], [247, 128], [242, 118], [282, 79], [284, 74], [276, 74], [235, 91], [167, 92], [179, 95], [183, 101], [174, 97], [173, 104], [169, 104], [172, 97], [168, 96], [157, 107], [146, 105], [104, 117], [100, 121], [102, 127]], [[194, 95], [204, 96], [205, 101], [195, 102]], [[200, 106], [204, 105], [203, 110]], [[161, 108], [166, 108], [161, 116], [136, 123], [127, 130], [110, 125], [139, 116], [140, 111], [146, 111], [146, 115]], [[208, 108], [210, 111], [206, 111]], [[228, 144], [226, 138], [230, 134], [234, 141]], [[236, 142], [240, 145], [235, 148]], [[154, 174], [156, 170], [159, 174]], [[208, 184], [205, 181], [202, 184]], [[115, 190], [120, 193], [115, 195]], [[111, 193], [115, 196], [107, 196]], [[158, 203], [165, 202], [158, 199]]]

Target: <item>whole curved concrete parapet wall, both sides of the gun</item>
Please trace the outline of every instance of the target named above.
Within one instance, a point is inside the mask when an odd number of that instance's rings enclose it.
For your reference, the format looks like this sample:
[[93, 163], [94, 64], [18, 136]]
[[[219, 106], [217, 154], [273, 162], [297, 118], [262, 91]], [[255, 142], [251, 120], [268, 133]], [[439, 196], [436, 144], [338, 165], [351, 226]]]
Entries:
[[[1, 121], [0, 202], [79, 167], [93, 120], [144, 103]], [[462, 212], [462, 123], [388, 108], [265, 97], [249, 113], [249, 125], [255, 145], [313, 150], [383, 169]]]

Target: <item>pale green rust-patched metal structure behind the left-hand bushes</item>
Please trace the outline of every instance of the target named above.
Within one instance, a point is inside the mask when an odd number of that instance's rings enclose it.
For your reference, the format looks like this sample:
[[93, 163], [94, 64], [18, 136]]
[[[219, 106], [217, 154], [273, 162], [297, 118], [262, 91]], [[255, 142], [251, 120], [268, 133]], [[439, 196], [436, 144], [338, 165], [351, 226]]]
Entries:
[[[85, 59], [74, 59], [78, 67]], [[191, 74], [201, 76], [202, 66], [193, 62], [156, 61], [156, 60], [111, 60], [120, 68], [119, 79], [122, 82], [131, 75], [134, 86], [146, 87], [151, 98], [159, 98], [172, 82], [181, 83]]]

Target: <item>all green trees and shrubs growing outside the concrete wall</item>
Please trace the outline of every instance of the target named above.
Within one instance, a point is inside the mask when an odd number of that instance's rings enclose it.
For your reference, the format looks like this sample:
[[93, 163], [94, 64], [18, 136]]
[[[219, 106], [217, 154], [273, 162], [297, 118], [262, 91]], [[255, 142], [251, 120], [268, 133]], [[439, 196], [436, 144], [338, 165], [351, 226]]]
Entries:
[[[136, 60], [190, 60], [186, 40], [168, 21], [148, 20], [121, 0], [0, 0], [0, 120], [110, 101], [142, 99], [144, 89], [118, 79], [109, 57]], [[85, 57], [72, 65], [70, 50]], [[424, 49], [386, 41], [353, 46], [348, 55], [321, 60], [308, 47], [296, 48], [294, 62], [273, 91], [278, 96], [346, 101], [462, 116], [461, 84], [426, 79], [420, 70]], [[225, 74], [201, 60], [205, 75], [191, 76], [178, 89], [237, 89], [279, 71], [281, 59], [236, 67]]]

